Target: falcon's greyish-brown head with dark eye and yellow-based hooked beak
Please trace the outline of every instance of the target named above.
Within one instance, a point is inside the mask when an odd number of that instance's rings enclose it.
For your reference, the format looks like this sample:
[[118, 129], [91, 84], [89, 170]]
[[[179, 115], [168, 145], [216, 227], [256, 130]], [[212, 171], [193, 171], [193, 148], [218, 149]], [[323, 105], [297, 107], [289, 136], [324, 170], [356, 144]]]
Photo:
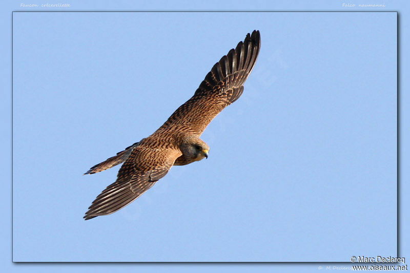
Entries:
[[182, 155], [188, 161], [199, 161], [208, 158], [209, 146], [195, 135], [190, 135], [182, 140], [180, 146]]

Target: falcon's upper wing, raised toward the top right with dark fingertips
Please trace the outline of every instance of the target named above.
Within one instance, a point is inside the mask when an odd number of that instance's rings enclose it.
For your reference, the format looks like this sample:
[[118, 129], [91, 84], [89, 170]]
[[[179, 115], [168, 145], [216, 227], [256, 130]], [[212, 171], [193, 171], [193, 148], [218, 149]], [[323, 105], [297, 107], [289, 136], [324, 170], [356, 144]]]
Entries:
[[242, 95], [243, 83], [255, 66], [259, 50], [260, 35], [254, 30], [214, 65], [194, 96], [182, 104], [161, 128], [185, 124], [198, 135], [202, 134], [217, 114]]

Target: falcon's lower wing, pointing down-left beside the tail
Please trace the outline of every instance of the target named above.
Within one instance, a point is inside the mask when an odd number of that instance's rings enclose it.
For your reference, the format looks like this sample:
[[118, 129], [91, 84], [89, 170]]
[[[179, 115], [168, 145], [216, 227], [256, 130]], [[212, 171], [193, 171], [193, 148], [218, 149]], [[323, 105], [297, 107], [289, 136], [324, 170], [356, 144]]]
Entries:
[[121, 166], [117, 180], [97, 196], [84, 218], [112, 214], [125, 207], [164, 177], [179, 155], [172, 149], [137, 146]]

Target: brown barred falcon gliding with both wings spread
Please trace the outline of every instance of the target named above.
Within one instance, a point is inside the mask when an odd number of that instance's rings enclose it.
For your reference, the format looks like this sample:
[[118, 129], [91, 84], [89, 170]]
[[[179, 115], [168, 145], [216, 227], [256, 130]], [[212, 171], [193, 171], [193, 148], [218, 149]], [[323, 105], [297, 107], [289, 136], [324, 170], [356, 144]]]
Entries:
[[255, 66], [260, 34], [254, 30], [223, 56], [195, 94], [147, 138], [91, 167], [95, 174], [122, 164], [117, 179], [92, 202], [85, 220], [112, 214], [125, 207], [164, 177], [173, 165], [208, 158], [209, 146], [199, 137], [211, 120], [243, 92], [243, 83]]

